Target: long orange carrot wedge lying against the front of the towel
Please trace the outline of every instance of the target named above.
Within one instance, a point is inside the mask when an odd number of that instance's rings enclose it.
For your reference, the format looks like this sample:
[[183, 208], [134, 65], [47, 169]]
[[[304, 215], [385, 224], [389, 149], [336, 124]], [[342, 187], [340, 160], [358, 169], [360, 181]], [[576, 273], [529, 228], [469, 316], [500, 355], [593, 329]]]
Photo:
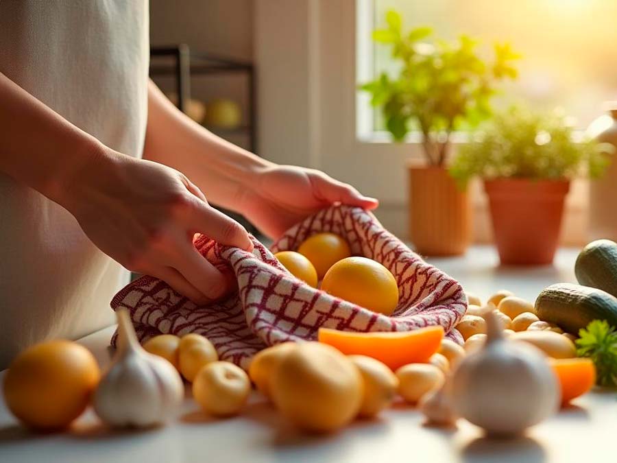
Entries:
[[319, 342], [330, 344], [346, 355], [367, 355], [392, 370], [407, 364], [424, 363], [437, 352], [444, 329], [426, 327], [414, 331], [356, 333], [320, 328]]

